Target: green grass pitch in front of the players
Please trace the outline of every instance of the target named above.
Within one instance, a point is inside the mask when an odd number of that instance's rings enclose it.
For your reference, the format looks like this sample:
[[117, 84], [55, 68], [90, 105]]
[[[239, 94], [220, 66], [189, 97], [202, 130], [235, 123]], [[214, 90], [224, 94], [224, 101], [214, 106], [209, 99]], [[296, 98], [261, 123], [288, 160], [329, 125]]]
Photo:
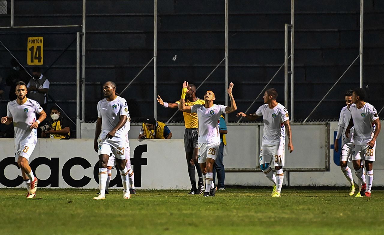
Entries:
[[0, 189], [0, 234], [383, 234], [384, 190], [371, 198], [348, 189], [227, 189], [216, 197], [187, 190]]

